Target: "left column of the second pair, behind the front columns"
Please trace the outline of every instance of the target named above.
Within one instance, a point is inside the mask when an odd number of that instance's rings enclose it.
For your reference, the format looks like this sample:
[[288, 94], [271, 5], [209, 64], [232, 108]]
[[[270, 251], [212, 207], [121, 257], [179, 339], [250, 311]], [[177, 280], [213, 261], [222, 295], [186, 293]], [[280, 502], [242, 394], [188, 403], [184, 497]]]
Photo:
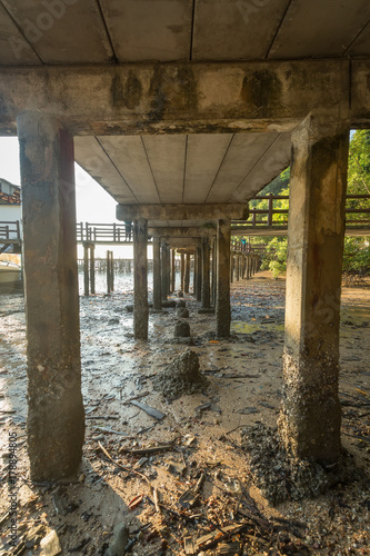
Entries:
[[148, 339], [148, 221], [133, 220], [133, 337]]

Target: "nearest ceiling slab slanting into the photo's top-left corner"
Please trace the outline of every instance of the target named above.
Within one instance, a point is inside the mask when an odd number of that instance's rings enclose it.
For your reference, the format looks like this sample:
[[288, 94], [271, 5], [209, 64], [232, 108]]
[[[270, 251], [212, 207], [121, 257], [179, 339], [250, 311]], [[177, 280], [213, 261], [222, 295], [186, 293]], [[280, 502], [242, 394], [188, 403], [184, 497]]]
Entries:
[[113, 52], [96, 1], [1, 2], [44, 63], [111, 61]]

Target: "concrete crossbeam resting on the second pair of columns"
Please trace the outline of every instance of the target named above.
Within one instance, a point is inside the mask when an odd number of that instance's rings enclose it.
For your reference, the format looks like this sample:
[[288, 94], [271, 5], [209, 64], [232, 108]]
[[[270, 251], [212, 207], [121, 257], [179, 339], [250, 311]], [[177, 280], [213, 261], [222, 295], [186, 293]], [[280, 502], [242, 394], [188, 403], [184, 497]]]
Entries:
[[213, 202], [209, 205], [117, 205], [118, 220], [247, 220], [244, 202]]

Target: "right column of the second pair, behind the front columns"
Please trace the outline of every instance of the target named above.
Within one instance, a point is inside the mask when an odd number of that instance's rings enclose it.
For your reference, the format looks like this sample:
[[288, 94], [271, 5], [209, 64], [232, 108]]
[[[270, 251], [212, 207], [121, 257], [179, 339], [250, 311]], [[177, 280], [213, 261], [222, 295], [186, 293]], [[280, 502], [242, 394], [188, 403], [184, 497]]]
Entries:
[[218, 220], [217, 226], [217, 335], [229, 338], [230, 308], [230, 220]]

